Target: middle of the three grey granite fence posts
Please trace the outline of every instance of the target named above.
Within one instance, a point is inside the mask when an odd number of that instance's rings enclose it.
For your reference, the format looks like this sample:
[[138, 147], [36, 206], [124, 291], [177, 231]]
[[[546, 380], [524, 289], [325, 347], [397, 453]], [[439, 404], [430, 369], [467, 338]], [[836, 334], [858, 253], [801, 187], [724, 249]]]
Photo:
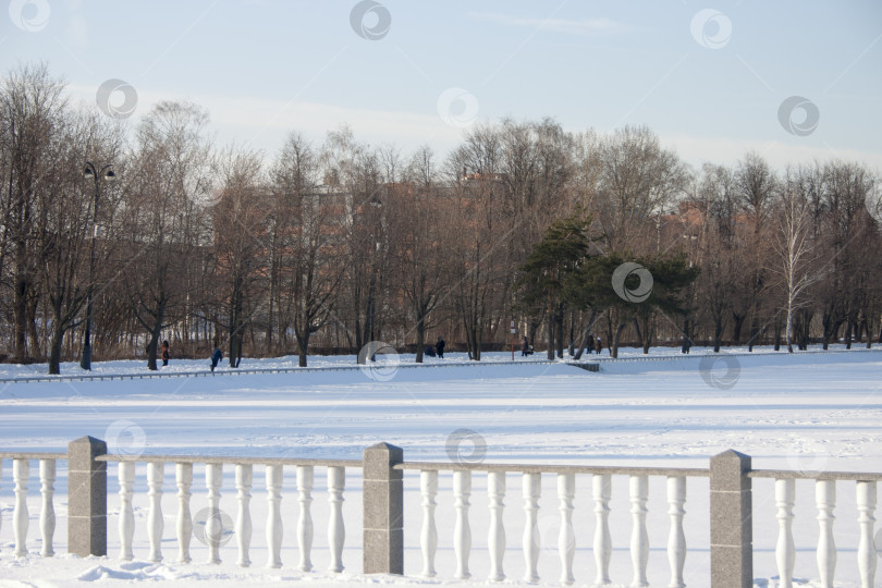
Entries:
[[404, 574], [404, 461], [401, 448], [377, 443], [364, 453], [364, 573]]

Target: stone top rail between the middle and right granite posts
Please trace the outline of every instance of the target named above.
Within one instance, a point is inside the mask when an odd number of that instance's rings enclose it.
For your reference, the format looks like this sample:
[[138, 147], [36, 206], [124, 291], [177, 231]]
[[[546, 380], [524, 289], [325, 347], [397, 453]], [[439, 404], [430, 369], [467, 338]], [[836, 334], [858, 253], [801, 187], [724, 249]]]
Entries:
[[580, 465], [543, 465], [543, 464], [486, 464], [453, 462], [403, 462], [392, 466], [394, 469], [418, 470], [473, 470], [473, 471], [512, 471], [519, 474], [599, 474], [620, 476], [695, 476], [710, 477], [710, 469], [694, 467], [632, 467], [632, 466], [580, 466]]

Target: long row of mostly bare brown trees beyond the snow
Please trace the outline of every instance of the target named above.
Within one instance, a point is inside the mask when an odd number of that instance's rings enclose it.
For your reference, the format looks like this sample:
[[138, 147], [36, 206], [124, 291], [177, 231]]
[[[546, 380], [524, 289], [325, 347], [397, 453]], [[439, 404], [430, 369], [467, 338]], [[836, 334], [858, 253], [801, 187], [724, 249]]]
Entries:
[[[134, 127], [74, 108], [42, 65], [8, 74], [0, 109], [0, 350], [52, 372], [81, 352], [89, 296], [96, 357], [146, 351], [151, 369], [162, 339], [236, 366], [377, 340], [421, 360], [439, 333], [480, 359], [511, 320], [550, 356], [588, 333], [614, 354], [880, 328], [879, 191], [857, 163], [695, 171], [647, 127], [552, 120], [477, 125], [443, 158], [343, 126], [268, 159], [213, 145], [193, 103]], [[651, 275], [646, 299], [613, 287], [625, 262]]]

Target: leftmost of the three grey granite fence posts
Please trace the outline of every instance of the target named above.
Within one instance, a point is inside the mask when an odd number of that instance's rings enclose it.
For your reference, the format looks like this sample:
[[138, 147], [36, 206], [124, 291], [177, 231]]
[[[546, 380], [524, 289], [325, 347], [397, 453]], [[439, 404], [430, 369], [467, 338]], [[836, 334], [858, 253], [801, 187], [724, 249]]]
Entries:
[[81, 437], [68, 444], [68, 552], [107, 555], [107, 443]]

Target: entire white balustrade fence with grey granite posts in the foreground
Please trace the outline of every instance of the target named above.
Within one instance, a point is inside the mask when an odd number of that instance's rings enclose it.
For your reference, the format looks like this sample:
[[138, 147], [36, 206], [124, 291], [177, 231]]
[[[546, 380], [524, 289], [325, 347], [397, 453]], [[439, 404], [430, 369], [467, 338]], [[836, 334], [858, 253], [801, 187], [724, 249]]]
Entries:
[[[78, 450], [75, 444], [78, 443]], [[327, 499], [327, 540], [328, 569], [339, 573], [344, 569], [343, 548], [345, 543], [345, 522], [343, 504], [345, 500], [346, 477], [358, 476], [353, 471], [364, 469], [365, 476], [365, 504], [363, 515], [365, 520], [364, 559], [365, 568], [377, 569], [376, 561], [385, 562], [381, 565], [394, 569], [403, 569], [403, 540], [404, 528], [413, 529], [408, 536], [418, 538], [418, 548], [421, 559], [420, 569], [408, 571], [424, 577], [439, 575], [436, 555], [439, 546], [451, 549], [454, 565], [442, 568], [442, 577], [466, 579], [473, 577], [470, 561], [474, 558], [487, 558], [480, 566], [480, 577], [476, 581], [502, 581], [511, 576], [506, 575], [506, 567], [512, 565], [512, 551], [507, 549], [516, 546], [519, 538], [519, 551], [524, 566], [522, 578], [528, 583], [550, 581], [550, 572], [540, 568], [540, 550], [555, 549], [555, 558], [560, 560], [560, 576], [556, 578], [563, 585], [575, 581], [593, 583], [595, 586], [610, 585], [612, 581], [629, 583], [630, 586], [649, 586], [647, 577], [647, 563], [650, 553], [648, 520], [654, 518], [658, 524], [659, 516], [650, 517], [660, 509], [657, 502], [649, 503], [649, 488], [663, 488], [664, 506], [662, 515], [667, 520], [665, 528], [660, 529], [666, 537], [665, 555], [670, 571], [670, 579], [665, 578], [670, 588], [684, 588], [686, 586], [688, 567], [687, 534], [689, 518], [702, 517], [710, 519], [711, 526], [711, 578], [698, 584], [711, 585], [714, 588], [749, 586], [752, 584], [752, 540], [750, 523], [754, 519], [751, 504], [757, 500], [751, 488], [751, 480], [765, 478], [773, 480], [773, 501], [763, 495], [761, 504], [770, 503], [773, 510], [770, 516], [777, 519], [777, 540], [774, 550], [780, 583], [779, 586], [791, 587], [794, 584], [794, 567], [796, 562], [796, 542], [794, 540], [794, 514], [796, 505], [797, 480], [809, 480], [814, 485], [814, 503], [811, 505], [817, 517], [816, 559], [817, 577], [821, 586], [832, 587], [836, 577], [837, 546], [834, 541], [834, 528], [840, 525], [850, 525], [856, 546], [849, 549], [856, 553], [856, 565], [861, 587], [874, 586], [878, 553], [874, 544], [874, 523], [878, 488], [877, 482], [882, 474], [856, 473], [811, 473], [788, 470], [755, 470], [750, 467], [749, 457], [735, 452], [725, 452], [711, 460], [709, 468], [640, 468], [640, 467], [592, 467], [592, 466], [532, 466], [515, 464], [453, 464], [453, 463], [412, 463], [404, 462], [401, 450], [390, 445], [375, 445], [366, 450], [365, 460], [328, 461], [328, 460], [281, 460], [281, 458], [242, 458], [242, 457], [199, 457], [199, 456], [126, 456], [105, 454], [103, 442], [84, 438], [71, 444], [71, 451], [64, 453], [0, 453], [0, 489], [4, 485], [12, 492], [14, 509], [11, 525], [3, 526], [0, 517], [0, 543], [2, 536], [11, 534], [14, 539], [13, 555], [21, 558], [34, 553], [34, 546], [28, 550], [28, 531], [30, 530], [30, 513], [28, 512], [28, 490], [32, 492], [39, 488], [39, 537], [40, 555], [49, 558], [54, 553], [56, 512], [53, 507], [54, 485], [57, 477], [57, 462], [66, 461], [69, 464], [69, 539], [68, 551], [82, 553], [105, 554], [107, 550], [106, 516], [108, 504], [119, 504], [119, 515], [115, 516], [117, 534], [119, 537], [118, 558], [123, 561], [135, 558], [151, 562], [161, 562], [172, 558], [170, 553], [162, 552], [163, 537], [174, 535], [176, 538], [176, 554], [174, 561], [185, 564], [192, 561], [191, 547], [193, 537], [203, 540], [207, 546], [207, 561], [219, 563], [221, 561], [221, 546], [232, 536], [235, 537], [237, 551], [236, 563], [243, 567], [252, 565], [252, 541], [254, 539], [254, 522], [252, 509], [255, 500], [266, 501], [267, 513], [265, 522], [266, 566], [271, 568], [291, 566], [308, 573], [313, 571], [313, 546], [315, 542], [315, 524], [311, 506], [315, 495]], [[83, 449], [85, 448], [85, 450]], [[382, 450], [378, 455], [388, 463], [377, 463], [376, 455], [371, 457], [370, 493], [368, 492], [367, 463], [368, 452]], [[390, 452], [397, 451], [397, 453]], [[85, 453], [76, 453], [85, 451]], [[385, 453], [383, 453], [385, 452]], [[394, 457], [397, 455], [399, 457]], [[385, 457], [383, 457], [385, 456]], [[32, 469], [32, 463], [38, 468]], [[140, 476], [136, 476], [136, 465], [140, 463]], [[172, 465], [173, 464], [173, 465]], [[11, 468], [9, 466], [11, 465]], [[204, 480], [194, 480], [194, 465], [204, 468]], [[262, 466], [255, 470], [255, 465]], [[89, 469], [91, 468], [91, 469]], [[226, 468], [226, 469], [224, 469]], [[144, 471], [146, 469], [146, 476]], [[316, 469], [324, 474], [323, 488], [315, 488]], [[8, 473], [11, 470], [11, 478]], [[83, 471], [90, 471], [88, 483], [77, 478]], [[418, 510], [419, 515], [404, 517], [402, 473], [411, 470], [419, 476]], [[231, 475], [225, 480], [224, 471]], [[439, 488], [439, 471], [450, 479], [450, 486]], [[379, 474], [378, 474], [379, 473]], [[100, 504], [93, 500], [97, 491], [107, 490], [107, 480], [102, 476], [115, 476], [119, 483], [118, 497], [108, 497], [107, 503]], [[167, 476], [168, 475], [168, 476]], [[378, 478], [376, 478], [378, 476]], [[451, 476], [452, 478], [448, 478]], [[519, 477], [519, 485], [506, 483], [512, 477]], [[687, 501], [687, 478], [710, 478], [710, 507], [708, 517], [706, 511], [689, 510]], [[39, 486], [35, 482], [39, 480]], [[261, 479], [262, 478], [262, 479]], [[618, 549], [626, 548], [629, 553], [630, 569], [617, 566], [611, 569], [611, 554], [613, 552], [613, 534], [611, 525], [611, 501], [613, 498], [613, 480], [626, 482], [627, 495], [620, 497], [615, 504], [620, 516], [628, 516], [630, 524], [627, 529], [629, 541], [627, 544], [617, 544]], [[289, 488], [296, 488], [296, 502], [292, 509], [296, 510], [296, 525], [285, 529], [282, 515], [282, 501], [287, 498], [284, 492], [285, 481]], [[542, 481], [548, 481], [546, 490], [551, 482], [555, 482], [556, 493], [547, 494], [542, 502]], [[654, 481], [652, 481], [654, 480]], [[473, 482], [480, 482], [473, 487]], [[94, 486], [94, 485], [99, 486]], [[200, 494], [205, 494], [206, 506], [199, 512], [205, 513], [204, 520], [194, 520], [195, 506], [191, 503], [194, 493], [194, 483]], [[448, 482], [445, 482], [448, 483]], [[616, 482], [618, 483], [618, 482]], [[801, 482], [800, 482], [801, 483]], [[808, 483], [808, 482], [806, 482]], [[93, 486], [89, 486], [93, 485]], [[847, 519], [843, 512], [837, 512], [836, 498], [838, 491], [850, 487], [854, 492], [854, 507], [849, 509]], [[482, 490], [486, 488], [486, 490]], [[253, 491], [259, 489], [257, 498]], [[204, 492], [203, 492], [204, 490]], [[293, 492], [293, 490], [292, 490]], [[378, 493], [379, 492], [379, 493]], [[476, 493], [479, 492], [479, 493]], [[169, 514], [174, 519], [173, 525], [167, 528], [162, 512], [162, 498], [169, 493], [169, 500], [176, 502], [176, 512]], [[135, 516], [135, 499], [144, 497], [147, 507], [146, 517]], [[656, 495], [656, 494], [653, 494]], [[749, 500], [742, 500], [746, 495]], [[383, 509], [368, 504], [371, 497], [383, 497], [387, 501]], [[751, 498], [752, 497], [752, 498]], [[294, 497], [291, 497], [293, 499]], [[480, 499], [480, 500], [478, 500]], [[737, 506], [733, 506], [738, 500]], [[653, 499], [654, 500], [654, 499]], [[473, 503], [474, 502], [474, 503]], [[225, 520], [222, 503], [235, 504], [235, 520]], [[551, 515], [547, 511], [553, 503]], [[439, 525], [436, 519], [439, 504], [451, 509], [453, 516], [450, 522], [452, 528]], [[475, 506], [478, 504], [478, 506]], [[544, 504], [544, 509], [541, 505]], [[849, 503], [850, 504], [850, 503]], [[167, 502], [167, 506], [168, 506]], [[201, 506], [201, 504], [199, 505]], [[507, 509], [506, 509], [507, 506]], [[522, 510], [518, 509], [520, 506]], [[803, 505], [804, 507], [806, 505]], [[487, 509], [476, 516], [475, 509]], [[739, 510], [740, 509], [740, 510]], [[90, 510], [87, 513], [84, 510]], [[546, 511], [546, 512], [543, 512]], [[380, 513], [379, 515], [377, 513]], [[102, 514], [103, 513], [103, 514]], [[399, 513], [399, 514], [396, 514]], [[506, 513], [509, 513], [506, 515]], [[518, 524], [512, 523], [512, 515], [520, 513], [516, 518]], [[801, 515], [800, 515], [801, 516]], [[88, 519], [90, 527], [79, 526], [76, 519]], [[370, 524], [368, 525], [368, 517]], [[838, 518], [837, 518], [838, 517]], [[543, 537], [540, 522], [554, 520], [556, 536]], [[146, 525], [147, 549], [134, 544], [136, 520]], [[473, 520], [479, 520], [478, 527]], [[772, 519], [774, 520], [774, 519]], [[578, 525], [577, 525], [578, 522]], [[576, 528], [584, 529], [586, 522], [592, 523], [590, 536], [581, 536]], [[259, 523], [259, 522], [258, 522]], [[98, 525], [97, 527], [95, 525]], [[105, 525], [101, 527], [101, 525]], [[768, 523], [767, 523], [768, 525]], [[370, 529], [368, 528], [370, 526]], [[232, 527], [232, 528], [230, 528]], [[83, 528], [87, 532], [81, 532]], [[444, 528], [444, 535], [439, 536], [439, 529]], [[768, 527], [767, 527], [768, 528]], [[11, 530], [10, 530], [11, 529]], [[287, 530], [287, 532], [285, 532]], [[379, 531], [380, 537], [389, 537], [385, 544], [368, 540], [370, 532]], [[142, 532], [144, 530], [142, 529]], [[446, 532], [450, 532], [448, 536]], [[588, 532], [586, 530], [586, 532]], [[658, 538], [659, 534], [653, 531]], [[385, 535], [383, 535], [385, 534]], [[477, 535], [476, 535], [477, 534]], [[397, 537], [397, 539], [394, 539]], [[473, 549], [473, 537], [486, 537], [486, 549]], [[101, 541], [105, 541], [101, 543]], [[542, 546], [544, 541], [546, 546]], [[583, 544], [584, 543], [584, 544]], [[589, 544], [590, 543], [590, 544]], [[283, 546], [295, 546], [298, 550], [296, 561], [284, 561]], [[85, 546], [85, 547], [84, 547]], [[707, 544], [694, 546], [707, 550]], [[579, 554], [577, 548], [587, 551], [587, 560], [592, 564], [596, 575], [593, 578], [577, 577], [579, 563], [584, 568], [587, 565], [579, 561], [585, 555]], [[507, 558], [506, 558], [507, 551]], [[742, 558], [740, 555], [744, 555]], [[395, 563], [397, 562], [397, 564]], [[489, 567], [488, 565], [489, 564]], [[348, 564], [353, 567], [353, 564]], [[487, 576], [481, 569], [489, 569]], [[581, 572], [584, 575], [584, 572]], [[693, 580], [695, 581], [695, 580]]]

